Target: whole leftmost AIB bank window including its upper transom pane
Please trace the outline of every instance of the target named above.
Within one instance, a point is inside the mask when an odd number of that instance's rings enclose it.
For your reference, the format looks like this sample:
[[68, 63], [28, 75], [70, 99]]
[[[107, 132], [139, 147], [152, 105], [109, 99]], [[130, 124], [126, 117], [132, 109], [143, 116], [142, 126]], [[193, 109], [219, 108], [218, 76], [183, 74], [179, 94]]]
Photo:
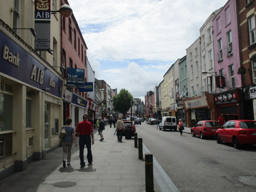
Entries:
[[0, 92], [0, 131], [12, 130], [12, 86], [1, 82]]

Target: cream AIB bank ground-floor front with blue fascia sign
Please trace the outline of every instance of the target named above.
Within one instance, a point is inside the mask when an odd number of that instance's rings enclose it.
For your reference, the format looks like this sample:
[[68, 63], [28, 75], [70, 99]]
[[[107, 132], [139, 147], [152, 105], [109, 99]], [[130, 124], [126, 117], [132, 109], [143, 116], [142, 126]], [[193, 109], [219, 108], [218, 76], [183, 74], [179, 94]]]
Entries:
[[0, 26], [0, 178], [60, 144], [64, 78], [8, 26]]

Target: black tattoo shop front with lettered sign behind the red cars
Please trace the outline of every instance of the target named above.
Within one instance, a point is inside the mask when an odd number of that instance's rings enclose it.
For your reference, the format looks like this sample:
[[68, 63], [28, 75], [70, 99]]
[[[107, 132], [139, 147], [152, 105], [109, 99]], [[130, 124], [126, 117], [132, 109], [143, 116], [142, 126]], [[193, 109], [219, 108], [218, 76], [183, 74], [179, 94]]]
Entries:
[[241, 119], [240, 89], [214, 94], [214, 104], [217, 107], [218, 116], [222, 113], [226, 121]]

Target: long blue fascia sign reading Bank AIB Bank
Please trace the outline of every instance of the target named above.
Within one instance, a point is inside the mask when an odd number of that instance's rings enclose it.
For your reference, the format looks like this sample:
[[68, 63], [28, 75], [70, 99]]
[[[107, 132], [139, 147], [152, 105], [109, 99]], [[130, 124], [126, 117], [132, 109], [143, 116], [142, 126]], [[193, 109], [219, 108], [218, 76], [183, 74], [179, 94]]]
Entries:
[[0, 31], [0, 72], [62, 98], [63, 80]]

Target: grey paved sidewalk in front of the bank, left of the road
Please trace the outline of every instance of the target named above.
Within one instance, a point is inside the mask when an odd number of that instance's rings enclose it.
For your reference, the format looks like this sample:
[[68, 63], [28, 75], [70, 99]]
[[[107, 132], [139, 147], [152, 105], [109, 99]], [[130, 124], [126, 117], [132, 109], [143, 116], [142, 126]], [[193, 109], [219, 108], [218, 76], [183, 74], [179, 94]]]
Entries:
[[[106, 127], [104, 140], [94, 134], [93, 164], [80, 168], [79, 147], [72, 146], [71, 165], [62, 167], [62, 147], [33, 161], [23, 172], [14, 172], [0, 180], [0, 192], [143, 192], [145, 162], [138, 159], [134, 140], [119, 143], [115, 129]], [[78, 139], [78, 138], [77, 138]], [[84, 149], [87, 163], [87, 150]], [[160, 186], [154, 179], [154, 190]]]

